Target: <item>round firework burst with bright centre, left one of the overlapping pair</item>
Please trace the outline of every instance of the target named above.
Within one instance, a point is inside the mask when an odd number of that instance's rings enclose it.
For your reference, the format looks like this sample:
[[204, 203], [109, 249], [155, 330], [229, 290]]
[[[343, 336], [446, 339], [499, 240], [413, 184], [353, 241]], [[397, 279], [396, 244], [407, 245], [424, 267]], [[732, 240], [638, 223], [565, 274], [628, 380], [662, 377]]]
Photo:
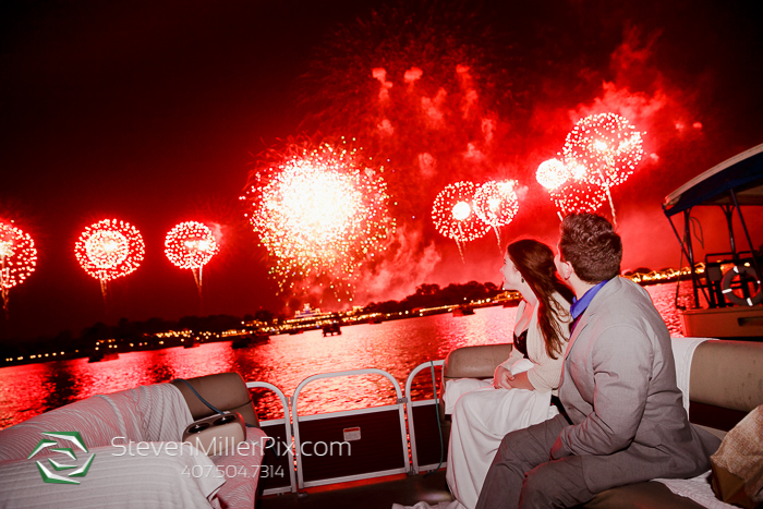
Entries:
[[441, 235], [456, 241], [461, 259], [461, 243], [483, 237], [489, 228], [476, 214], [476, 191], [477, 186], [472, 182], [456, 182], [440, 191], [432, 206], [435, 228]]

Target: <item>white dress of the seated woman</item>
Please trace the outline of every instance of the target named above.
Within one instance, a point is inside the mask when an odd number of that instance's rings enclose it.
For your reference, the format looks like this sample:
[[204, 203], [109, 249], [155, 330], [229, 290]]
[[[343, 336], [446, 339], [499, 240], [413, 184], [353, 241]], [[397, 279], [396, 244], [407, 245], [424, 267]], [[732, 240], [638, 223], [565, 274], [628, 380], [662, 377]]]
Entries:
[[[518, 319], [522, 311], [523, 308], [518, 310]], [[537, 327], [537, 310], [530, 322], [530, 328], [532, 327]], [[543, 340], [540, 334], [529, 335], [528, 353], [532, 350], [531, 339], [537, 341], [537, 337]], [[562, 355], [558, 356], [557, 362], [561, 361]], [[512, 364], [504, 365], [514, 375], [537, 365], [526, 359], [509, 361]], [[452, 424], [446, 478], [451, 494], [460, 502], [460, 506], [453, 502], [448, 506], [449, 509], [473, 509], [476, 506], [485, 475], [504, 436], [557, 415], [559, 412], [550, 404], [550, 388], [495, 389], [493, 379], [462, 378], [447, 383], [445, 411], [452, 413]]]

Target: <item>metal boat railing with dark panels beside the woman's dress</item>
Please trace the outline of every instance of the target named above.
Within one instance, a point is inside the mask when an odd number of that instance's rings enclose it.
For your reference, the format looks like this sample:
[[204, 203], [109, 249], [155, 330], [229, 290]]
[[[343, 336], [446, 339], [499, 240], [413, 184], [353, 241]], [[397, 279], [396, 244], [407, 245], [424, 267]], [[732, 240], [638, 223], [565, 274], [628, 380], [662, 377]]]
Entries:
[[[361, 481], [401, 473], [420, 473], [445, 465], [447, 437], [443, 437], [435, 368], [441, 372], [445, 361], [431, 361], [416, 366], [400, 384], [378, 368], [323, 373], [302, 380], [291, 398], [277, 386], [249, 381], [250, 389], [268, 389], [278, 396], [283, 419], [261, 421], [261, 427], [279, 444], [290, 445], [287, 455], [269, 457], [289, 472], [280, 480], [264, 478], [264, 495], [294, 493], [304, 488]], [[422, 373], [423, 372], [423, 373]], [[413, 401], [413, 380], [432, 373], [435, 396]], [[378, 375], [395, 390], [395, 403], [344, 411], [301, 415], [301, 393], [308, 385], [331, 378]], [[319, 449], [318, 449], [319, 448]], [[409, 453], [410, 450], [410, 453]], [[277, 452], [277, 451], [274, 451]], [[272, 469], [270, 470], [272, 471]]]

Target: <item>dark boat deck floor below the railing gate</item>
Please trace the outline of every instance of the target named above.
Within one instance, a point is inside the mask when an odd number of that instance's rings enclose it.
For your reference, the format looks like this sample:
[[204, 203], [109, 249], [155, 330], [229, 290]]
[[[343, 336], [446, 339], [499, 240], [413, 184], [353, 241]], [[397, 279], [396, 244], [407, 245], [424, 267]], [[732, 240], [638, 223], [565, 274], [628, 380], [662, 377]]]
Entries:
[[304, 493], [269, 495], [259, 498], [258, 509], [391, 509], [392, 504], [413, 506], [425, 501], [436, 506], [452, 497], [445, 481], [445, 469], [431, 474], [389, 475], [366, 481], [307, 488]]

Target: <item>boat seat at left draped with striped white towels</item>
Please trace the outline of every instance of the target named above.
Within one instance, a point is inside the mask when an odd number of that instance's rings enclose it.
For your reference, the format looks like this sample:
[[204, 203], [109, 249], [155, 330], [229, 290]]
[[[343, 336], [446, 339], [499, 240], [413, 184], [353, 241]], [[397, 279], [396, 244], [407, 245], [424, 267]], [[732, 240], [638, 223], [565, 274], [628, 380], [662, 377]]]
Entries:
[[[239, 374], [187, 381], [217, 409], [257, 425]], [[245, 443], [218, 456], [181, 444], [186, 426], [214, 413], [175, 380], [92, 396], [1, 429], [0, 506], [251, 509], [266, 445], [262, 429], [246, 427]], [[66, 439], [72, 433], [77, 440]], [[51, 437], [64, 449], [49, 447]]]

